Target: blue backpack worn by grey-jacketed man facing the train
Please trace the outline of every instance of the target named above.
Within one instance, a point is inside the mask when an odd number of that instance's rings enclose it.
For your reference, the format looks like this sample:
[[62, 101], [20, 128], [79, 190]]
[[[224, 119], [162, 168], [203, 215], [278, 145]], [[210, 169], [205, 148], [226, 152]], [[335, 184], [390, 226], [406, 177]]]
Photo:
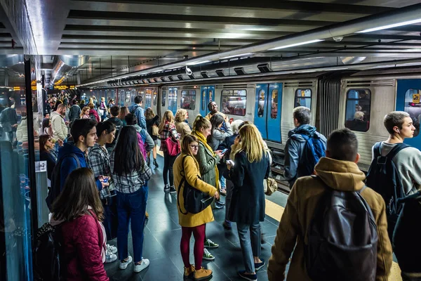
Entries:
[[316, 133], [312, 133], [310, 136], [304, 133], [300, 133], [300, 135], [305, 139], [305, 145], [298, 166], [301, 171], [305, 171], [302, 176], [310, 176], [319, 159], [326, 156], [326, 145]]

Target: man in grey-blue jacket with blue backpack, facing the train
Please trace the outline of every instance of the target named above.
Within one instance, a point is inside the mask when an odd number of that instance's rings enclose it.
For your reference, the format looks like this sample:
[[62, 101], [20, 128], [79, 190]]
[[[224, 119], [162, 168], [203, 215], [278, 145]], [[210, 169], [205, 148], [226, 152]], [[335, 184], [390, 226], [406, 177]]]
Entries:
[[[326, 137], [316, 131], [316, 127], [310, 124], [310, 110], [308, 107], [299, 106], [293, 110], [293, 120], [295, 129], [288, 132], [288, 141], [285, 145], [285, 172], [283, 177], [288, 181], [290, 188], [293, 187], [297, 178], [309, 176], [307, 169], [300, 165], [300, 158], [305, 149], [306, 140], [302, 135], [311, 137], [315, 134], [319, 137], [326, 148]], [[313, 167], [314, 168], [314, 167]]]

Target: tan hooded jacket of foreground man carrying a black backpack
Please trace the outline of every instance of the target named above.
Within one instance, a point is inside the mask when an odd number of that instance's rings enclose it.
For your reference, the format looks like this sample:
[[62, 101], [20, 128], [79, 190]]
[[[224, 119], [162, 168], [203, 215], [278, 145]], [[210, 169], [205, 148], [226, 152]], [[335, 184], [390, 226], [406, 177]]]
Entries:
[[[314, 169], [321, 181], [335, 190], [361, 190], [364, 186], [366, 176], [354, 162], [323, 157]], [[291, 254], [293, 256], [286, 280], [311, 281], [305, 270], [304, 248], [307, 244], [307, 229], [317, 203], [326, 191], [320, 179], [304, 176], [295, 181], [272, 246], [272, 256], [267, 267], [269, 281], [285, 279], [285, 268]], [[387, 235], [385, 201], [370, 188], [363, 190], [361, 195], [370, 206], [377, 224], [377, 268], [373, 268], [376, 270], [375, 280], [387, 281], [392, 267], [392, 244]]]

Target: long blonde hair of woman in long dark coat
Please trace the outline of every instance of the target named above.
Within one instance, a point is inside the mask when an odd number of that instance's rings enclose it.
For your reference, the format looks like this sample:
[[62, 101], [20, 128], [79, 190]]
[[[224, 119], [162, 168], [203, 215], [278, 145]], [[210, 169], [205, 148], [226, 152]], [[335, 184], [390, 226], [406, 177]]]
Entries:
[[239, 135], [241, 138], [239, 151], [246, 152], [248, 162], [261, 161], [265, 153], [265, 146], [258, 127], [253, 124], [242, 126]]

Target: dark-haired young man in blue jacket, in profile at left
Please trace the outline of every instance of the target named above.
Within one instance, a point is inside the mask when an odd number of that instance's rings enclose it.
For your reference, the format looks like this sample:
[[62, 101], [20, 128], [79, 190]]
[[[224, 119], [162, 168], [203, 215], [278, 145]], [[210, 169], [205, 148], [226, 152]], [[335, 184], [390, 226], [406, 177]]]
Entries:
[[[88, 148], [93, 147], [98, 136], [96, 134], [96, 122], [93, 119], [76, 119], [73, 122], [70, 133], [73, 142], [67, 142], [58, 150], [57, 162], [60, 166], [60, 190], [65, 185], [67, 176], [78, 168], [88, 168], [88, 158], [86, 157]], [[78, 161], [72, 156], [76, 156]], [[79, 162], [79, 163], [78, 163]], [[102, 190], [108, 183], [102, 182], [102, 176], [96, 178], [98, 190]]]

